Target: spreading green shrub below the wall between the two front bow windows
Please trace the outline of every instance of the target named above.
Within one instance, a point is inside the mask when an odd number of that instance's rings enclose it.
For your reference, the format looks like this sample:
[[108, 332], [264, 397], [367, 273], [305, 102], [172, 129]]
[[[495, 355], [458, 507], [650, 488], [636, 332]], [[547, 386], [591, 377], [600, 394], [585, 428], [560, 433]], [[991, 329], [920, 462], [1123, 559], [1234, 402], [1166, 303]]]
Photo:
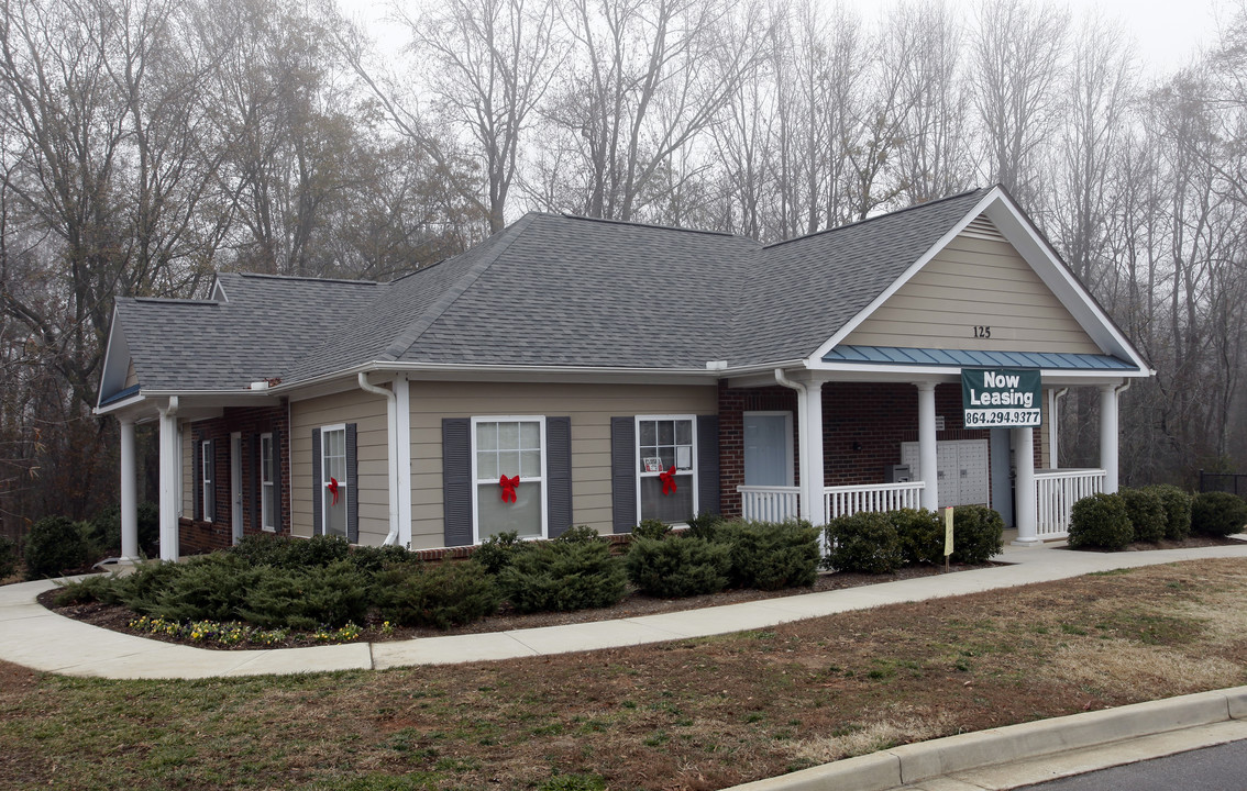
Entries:
[[625, 593], [624, 564], [605, 542], [534, 544], [498, 575], [521, 613], [610, 607]]

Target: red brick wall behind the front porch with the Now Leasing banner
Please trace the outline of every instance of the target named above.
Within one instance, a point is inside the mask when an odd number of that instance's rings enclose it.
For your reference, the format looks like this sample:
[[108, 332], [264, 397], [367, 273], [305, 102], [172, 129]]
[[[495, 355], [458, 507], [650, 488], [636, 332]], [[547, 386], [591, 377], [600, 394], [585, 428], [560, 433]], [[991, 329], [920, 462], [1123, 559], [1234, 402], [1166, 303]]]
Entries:
[[[744, 483], [744, 430], [747, 411], [788, 410], [793, 412], [797, 392], [788, 387], [732, 390], [720, 384], [720, 480], [725, 516], [739, 516]], [[936, 440], [988, 438], [981, 429], [966, 430], [961, 420], [960, 384], [935, 387], [935, 414], [944, 417]], [[1036, 432], [1039, 429], [1035, 430]], [[823, 385], [823, 481], [824, 486], [883, 483], [884, 467], [900, 463], [900, 443], [918, 441], [918, 389], [910, 384], [828, 382]], [[793, 441], [799, 482], [799, 438]], [[1040, 438], [1035, 437], [1035, 466], [1040, 465]], [[917, 471], [915, 471], [917, 473]]]

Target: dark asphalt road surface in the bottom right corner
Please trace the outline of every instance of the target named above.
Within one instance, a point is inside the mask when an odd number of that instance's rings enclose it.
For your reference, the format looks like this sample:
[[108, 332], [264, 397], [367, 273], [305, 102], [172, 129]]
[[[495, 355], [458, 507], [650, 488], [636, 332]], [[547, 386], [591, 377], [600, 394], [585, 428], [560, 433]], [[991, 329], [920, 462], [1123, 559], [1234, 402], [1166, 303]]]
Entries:
[[1247, 741], [1064, 777], [1016, 791], [1247, 791]]

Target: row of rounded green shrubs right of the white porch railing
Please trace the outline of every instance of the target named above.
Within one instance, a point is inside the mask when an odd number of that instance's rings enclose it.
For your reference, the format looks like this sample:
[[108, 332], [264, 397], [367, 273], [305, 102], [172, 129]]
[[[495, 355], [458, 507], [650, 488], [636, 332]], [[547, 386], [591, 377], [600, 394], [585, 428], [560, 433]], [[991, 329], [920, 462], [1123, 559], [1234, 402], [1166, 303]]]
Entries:
[[1121, 549], [1136, 541], [1222, 537], [1247, 528], [1247, 501], [1227, 492], [1187, 495], [1176, 486], [1084, 497], [1070, 512], [1070, 546]]

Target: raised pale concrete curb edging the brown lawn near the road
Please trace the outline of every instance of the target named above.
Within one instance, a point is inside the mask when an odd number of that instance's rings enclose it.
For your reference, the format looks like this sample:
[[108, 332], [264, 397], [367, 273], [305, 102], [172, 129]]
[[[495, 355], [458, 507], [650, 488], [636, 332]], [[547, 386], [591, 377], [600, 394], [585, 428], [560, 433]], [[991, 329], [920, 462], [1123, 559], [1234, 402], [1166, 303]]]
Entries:
[[1230, 720], [1247, 720], [1247, 686], [903, 745], [727, 791], [888, 791], [953, 772]]

